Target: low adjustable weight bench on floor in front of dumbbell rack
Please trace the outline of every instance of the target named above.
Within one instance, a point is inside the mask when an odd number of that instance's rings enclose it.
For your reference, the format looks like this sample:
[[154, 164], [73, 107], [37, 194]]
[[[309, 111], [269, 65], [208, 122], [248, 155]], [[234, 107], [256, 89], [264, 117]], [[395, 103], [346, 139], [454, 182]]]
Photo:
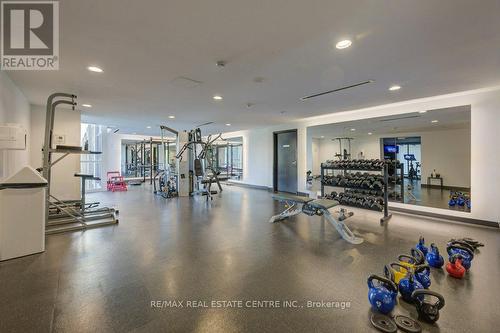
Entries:
[[326, 199], [311, 199], [306, 197], [299, 197], [297, 195], [290, 194], [275, 194], [273, 199], [279, 202], [284, 202], [286, 209], [274, 215], [269, 220], [269, 223], [278, 222], [287, 219], [291, 216], [304, 213], [309, 216], [324, 216], [331, 225], [337, 229], [340, 236], [351, 244], [361, 244], [363, 243], [363, 238], [356, 237], [354, 233], [345, 225], [343, 222], [345, 219], [353, 215], [352, 212], [346, 213], [345, 209], [340, 210], [339, 217], [336, 219], [329, 211], [330, 208], [337, 206], [339, 203], [335, 200]]

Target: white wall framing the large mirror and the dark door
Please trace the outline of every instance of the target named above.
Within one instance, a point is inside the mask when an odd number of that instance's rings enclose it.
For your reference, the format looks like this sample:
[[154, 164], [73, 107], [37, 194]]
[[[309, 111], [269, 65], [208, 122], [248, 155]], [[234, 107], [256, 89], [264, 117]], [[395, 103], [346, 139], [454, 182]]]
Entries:
[[[433, 110], [445, 107], [471, 105], [471, 192], [473, 207], [470, 214], [446, 209], [402, 205], [407, 209], [424, 209], [428, 212], [456, 215], [498, 222], [500, 205], [498, 189], [500, 177], [500, 155], [496, 147], [500, 146], [500, 87], [479, 89], [442, 96], [421, 98], [400, 103], [393, 103], [360, 110], [332, 113], [329, 115], [305, 118], [286, 126], [260, 128], [249, 131], [226, 133], [225, 137], [242, 136], [244, 141], [244, 178], [243, 182], [252, 185], [272, 187], [272, 134], [282, 129], [298, 129], [299, 191], [306, 191], [306, 171], [311, 169], [311, 139], [306, 136], [306, 128], [329, 123], [340, 123], [358, 119], [413, 113], [421, 110]], [[488, 161], [485, 163], [485, 161]], [[487, 176], [485, 176], [487, 175]]]

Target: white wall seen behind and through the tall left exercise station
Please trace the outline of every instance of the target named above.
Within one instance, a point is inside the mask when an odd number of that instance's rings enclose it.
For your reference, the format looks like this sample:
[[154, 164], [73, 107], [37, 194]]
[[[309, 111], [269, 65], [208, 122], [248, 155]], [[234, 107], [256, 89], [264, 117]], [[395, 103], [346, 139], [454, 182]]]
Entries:
[[[54, 134], [65, 135], [66, 145], [80, 146], [81, 115], [79, 111], [58, 108], [55, 112]], [[45, 106], [31, 106], [31, 158], [33, 168], [42, 166], [42, 148], [45, 140]], [[52, 155], [52, 161], [59, 154]], [[69, 155], [52, 168], [51, 194], [61, 200], [80, 199], [80, 155]]]

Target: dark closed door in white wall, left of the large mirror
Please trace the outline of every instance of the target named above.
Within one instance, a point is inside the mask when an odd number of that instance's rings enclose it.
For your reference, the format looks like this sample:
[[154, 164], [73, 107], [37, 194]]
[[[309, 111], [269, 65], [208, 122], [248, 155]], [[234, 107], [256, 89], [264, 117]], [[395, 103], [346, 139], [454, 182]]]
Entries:
[[297, 193], [297, 130], [274, 133], [274, 190]]

